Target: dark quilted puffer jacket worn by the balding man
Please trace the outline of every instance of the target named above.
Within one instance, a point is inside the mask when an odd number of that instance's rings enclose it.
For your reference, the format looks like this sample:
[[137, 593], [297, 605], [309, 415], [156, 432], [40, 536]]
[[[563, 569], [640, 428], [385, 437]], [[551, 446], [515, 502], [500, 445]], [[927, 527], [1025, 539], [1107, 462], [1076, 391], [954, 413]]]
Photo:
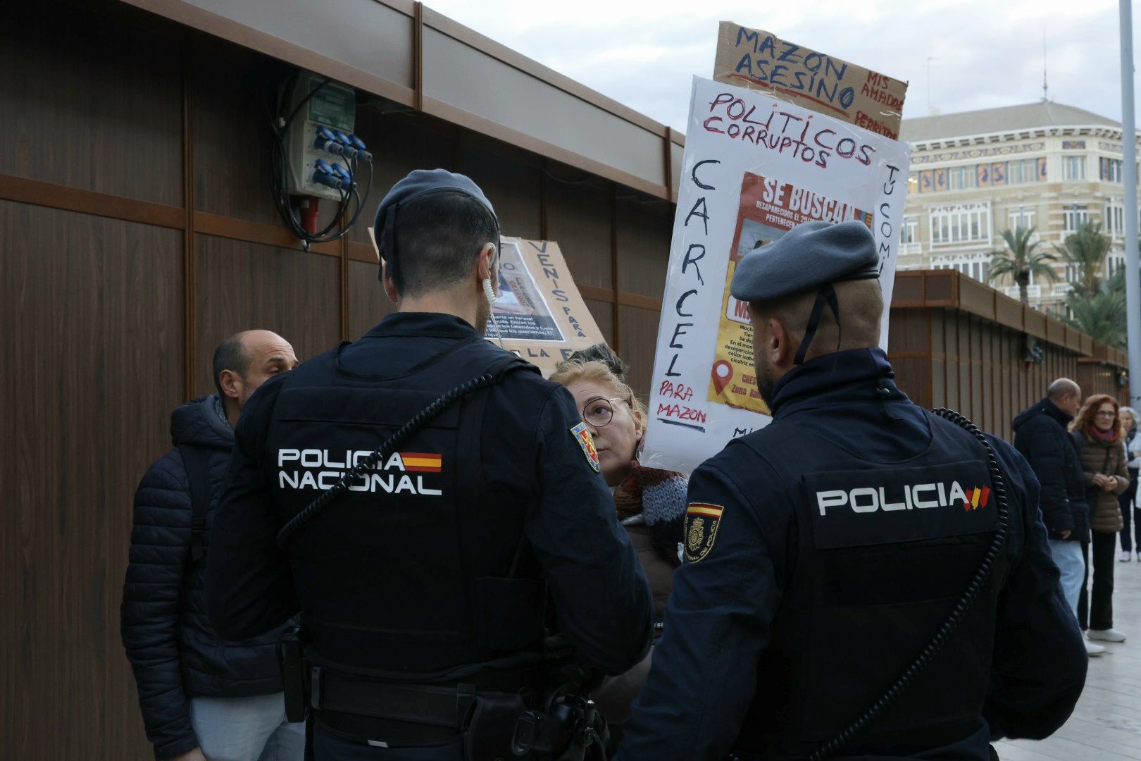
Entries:
[[[215, 397], [188, 402], [170, 421], [175, 446], [205, 451], [210, 463], [210, 511], [203, 548], [221, 497], [234, 432], [215, 410]], [[193, 568], [191, 492], [177, 448], [160, 458], [135, 494], [130, 565], [120, 623], [135, 671], [147, 738], [156, 759], [194, 750], [189, 695], [251, 697], [282, 689], [276, 643], [280, 630], [240, 643], [218, 639], [203, 598], [205, 558]]]

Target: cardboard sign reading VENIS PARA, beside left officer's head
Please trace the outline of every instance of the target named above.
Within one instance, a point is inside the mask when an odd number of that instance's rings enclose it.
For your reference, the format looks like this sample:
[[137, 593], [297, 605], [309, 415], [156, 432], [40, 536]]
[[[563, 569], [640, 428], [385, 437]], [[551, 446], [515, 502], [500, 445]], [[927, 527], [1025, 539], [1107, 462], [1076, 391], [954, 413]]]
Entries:
[[[543, 375], [572, 353], [602, 340], [578, 294], [559, 244], [503, 237], [499, 298], [487, 323], [487, 340], [537, 365]], [[497, 326], [496, 326], [497, 325]]]

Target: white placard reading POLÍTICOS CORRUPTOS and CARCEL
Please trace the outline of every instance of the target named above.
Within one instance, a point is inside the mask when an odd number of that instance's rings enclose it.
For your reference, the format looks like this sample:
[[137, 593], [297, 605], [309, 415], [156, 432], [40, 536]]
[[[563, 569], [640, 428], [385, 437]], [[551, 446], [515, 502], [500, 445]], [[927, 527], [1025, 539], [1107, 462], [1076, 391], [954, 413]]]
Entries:
[[[689, 472], [763, 427], [741, 258], [804, 221], [859, 220], [891, 303], [909, 148], [770, 95], [694, 78], [642, 462]], [[888, 310], [881, 327], [888, 346]]]

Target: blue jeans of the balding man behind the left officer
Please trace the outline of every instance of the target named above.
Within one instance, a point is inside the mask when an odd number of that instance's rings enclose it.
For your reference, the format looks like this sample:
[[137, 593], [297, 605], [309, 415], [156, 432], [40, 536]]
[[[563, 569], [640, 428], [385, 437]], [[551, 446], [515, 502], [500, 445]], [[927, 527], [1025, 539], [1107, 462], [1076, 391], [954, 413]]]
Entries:
[[191, 697], [191, 723], [210, 761], [301, 761], [305, 722], [285, 721], [285, 695]]

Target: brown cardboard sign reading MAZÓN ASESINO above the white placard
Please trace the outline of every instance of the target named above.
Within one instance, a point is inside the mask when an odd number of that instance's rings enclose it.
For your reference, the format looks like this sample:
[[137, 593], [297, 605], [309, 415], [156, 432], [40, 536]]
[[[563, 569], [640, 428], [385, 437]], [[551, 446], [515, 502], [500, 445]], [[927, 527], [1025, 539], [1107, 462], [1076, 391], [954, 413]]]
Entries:
[[721, 22], [713, 79], [899, 139], [907, 82], [782, 40], [771, 32]]

